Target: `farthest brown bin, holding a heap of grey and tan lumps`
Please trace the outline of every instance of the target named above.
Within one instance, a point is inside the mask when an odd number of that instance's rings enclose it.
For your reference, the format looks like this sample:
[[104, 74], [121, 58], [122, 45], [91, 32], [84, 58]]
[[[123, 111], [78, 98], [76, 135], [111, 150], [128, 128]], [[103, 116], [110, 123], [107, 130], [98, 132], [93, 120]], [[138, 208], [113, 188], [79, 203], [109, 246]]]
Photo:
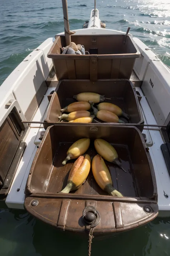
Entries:
[[58, 80], [129, 79], [141, 54], [132, 36], [127, 36], [125, 44], [124, 39], [125, 35], [73, 35], [71, 41], [84, 45], [90, 55], [69, 55], [61, 54], [65, 37], [57, 36], [47, 56], [52, 58]]

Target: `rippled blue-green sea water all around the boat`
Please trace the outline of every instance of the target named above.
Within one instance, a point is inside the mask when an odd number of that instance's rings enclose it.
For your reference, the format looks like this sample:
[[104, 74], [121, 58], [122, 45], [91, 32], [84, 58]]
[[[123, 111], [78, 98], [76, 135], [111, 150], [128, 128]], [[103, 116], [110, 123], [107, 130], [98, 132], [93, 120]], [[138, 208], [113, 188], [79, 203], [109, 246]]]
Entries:
[[[92, 0], [68, 0], [70, 28], [82, 28]], [[170, 0], [96, 0], [107, 28], [141, 39], [170, 66]], [[0, 85], [48, 37], [62, 32], [61, 0], [0, 0]], [[0, 209], [0, 255], [88, 255], [88, 238], [58, 232], [25, 211]], [[92, 243], [92, 256], [169, 256], [170, 218]]]

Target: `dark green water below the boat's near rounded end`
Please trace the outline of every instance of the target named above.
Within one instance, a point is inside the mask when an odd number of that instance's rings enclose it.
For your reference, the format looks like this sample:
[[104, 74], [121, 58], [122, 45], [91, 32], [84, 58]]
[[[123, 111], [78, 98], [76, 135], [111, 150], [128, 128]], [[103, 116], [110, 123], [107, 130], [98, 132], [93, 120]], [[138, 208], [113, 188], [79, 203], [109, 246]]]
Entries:
[[[88, 238], [59, 232], [35, 220], [27, 212], [0, 212], [0, 255], [48, 256], [88, 255]], [[150, 224], [116, 237], [92, 243], [92, 256], [165, 256], [170, 255], [170, 221], [156, 219]]]

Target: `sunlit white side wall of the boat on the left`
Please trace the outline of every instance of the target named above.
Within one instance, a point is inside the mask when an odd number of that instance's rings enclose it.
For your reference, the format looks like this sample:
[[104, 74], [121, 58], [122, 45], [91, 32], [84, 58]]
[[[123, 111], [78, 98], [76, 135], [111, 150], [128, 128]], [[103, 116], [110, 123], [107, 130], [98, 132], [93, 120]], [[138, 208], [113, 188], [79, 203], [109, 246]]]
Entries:
[[7, 112], [5, 104], [10, 99], [18, 101], [23, 114], [29, 110], [30, 103], [37, 100], [37, 93], [47, 90], [45, 80], [52, 67], [52, 59], [47, 58], [47, 53], [53, 44], [53, 38], [48, 38], [37, 49], [32, 51], [1, 85], [0, 94], [0, 120]]

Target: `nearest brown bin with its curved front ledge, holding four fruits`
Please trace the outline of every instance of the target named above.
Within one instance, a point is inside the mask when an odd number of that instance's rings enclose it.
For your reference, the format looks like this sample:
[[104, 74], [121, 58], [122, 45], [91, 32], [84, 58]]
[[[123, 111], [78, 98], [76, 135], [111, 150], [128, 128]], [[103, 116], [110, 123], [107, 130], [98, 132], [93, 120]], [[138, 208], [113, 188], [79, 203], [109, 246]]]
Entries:
[[[75, 160], [65, 166], [70, 145], [80, 138], [90, 138], [87, 151], [93, 158], [97, 153], [94, 140], [102, 138], [118, 152], [123, 168], [107, 164], [114, 187], [124, 197], [109, 196], [100, 189], [90, 170], [85, 184], [69, 194], [60, 193], [66, 186], [69, 171]], [[133, 126], [76, 124], [54, 125], [47, 128], [34, 158], [24, 206], [28, 212], [61, 230], [85, 232], [82, 212], [94, 206], [100, 213], [100, 223], [95, 233], [112, 233], [135, 228], [154, 219], [158, 214], [155, 173], [150, 154], [140, 131]], [[38, 205], [33, 206], [32, 201]], [[150, 212], [144, 210], [145, 206]]]

